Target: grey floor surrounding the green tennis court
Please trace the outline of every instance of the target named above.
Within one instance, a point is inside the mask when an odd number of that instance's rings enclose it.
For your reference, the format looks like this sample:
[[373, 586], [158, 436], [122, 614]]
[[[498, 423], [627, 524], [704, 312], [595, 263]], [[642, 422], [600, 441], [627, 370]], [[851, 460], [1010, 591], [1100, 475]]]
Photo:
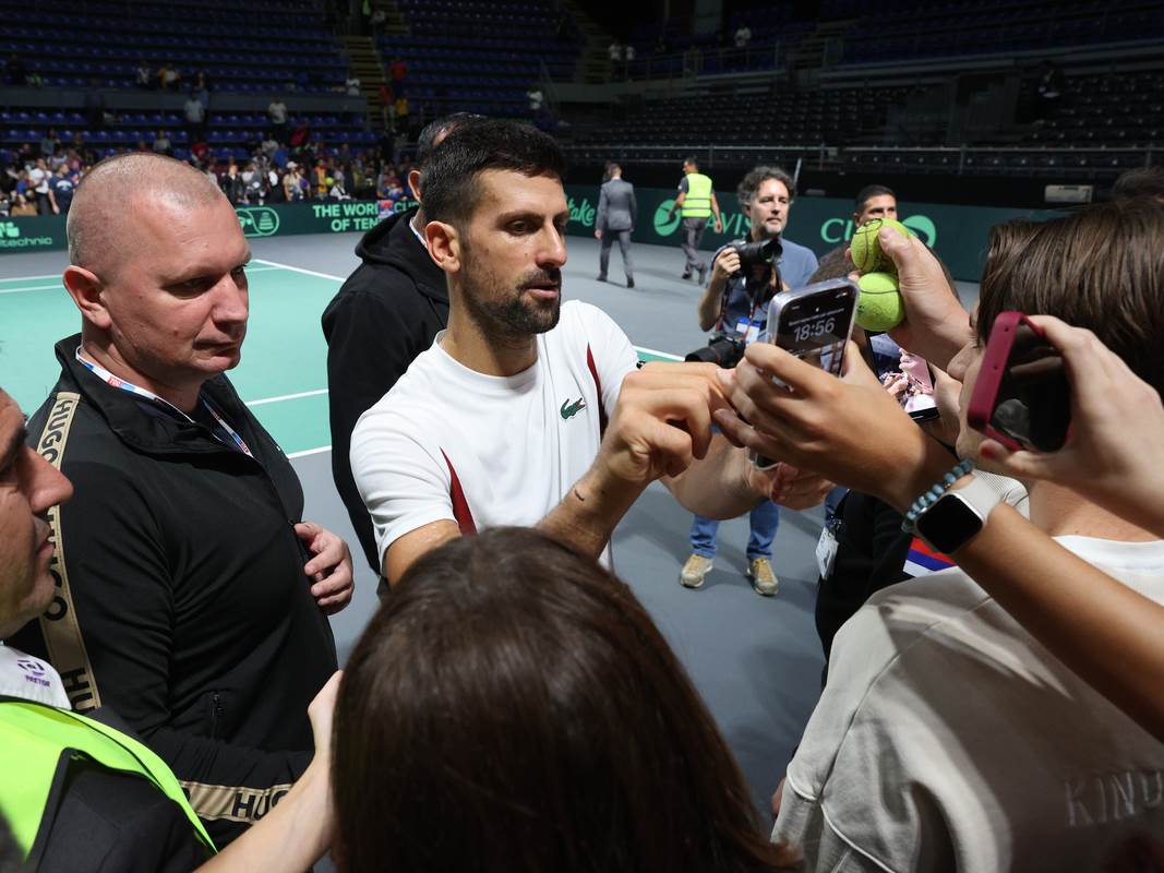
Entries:
[[[347, 276], [357, 264], [357, 234], [294, 236], [254, 240], [251, 246], [257, 258], [322, 274], [320, 281], [331, 282], [328, 288], [334, 289], [338, 283], [328, 277]], [[682, 255], [677, 247], [636, 246], [633, 290], [622, 285], [617, 249], [610, 265], [612, 282], [602, 284], [595, 281], [597, 242], [569, 237], [568, 248], [563, 270], [567, 299], [602, 307], [639, 347], [682, 355], [705, 342], [695, 318], [700, 289], [680, 279]], [[64, 253], [5, 256], [0, 258], [0, 281], [59, 272], [65, 263]], [[959, 284], [964, 301], [972, 301], [977, 289]], [[319, 296], [318, 312], [303, 313], [317, 328], [328, 297]], [[0, 324], [0, 342], [5, 339], [5, 325]], [[262, 418], [261, 410], [256, 414]], [[292, 463], [306, 492], [305, 517], [354, 542], [332, 484], [329, 453], [305, 454]], [[715, 569], [704, 587], [696, 591], [682, 588], [677, 575], [689, 554], [690, 520], [666, 489], [651, 487], [615, 534], [616, 569], [686, 665], [734, 751], [755, 803], [767, 809], [819, 690], [823, 659], [812, 608], [814, 548], [822, 512], [782, 512], [774, 546], [781, 587], [774, 598], [753, 594], [743, 575], [746, 518], [721, 526]], [[376, 609], [375, 577], [362, 560], [357, 561], [356, 582], [352, 605], [332, 618], [341, 661]]]

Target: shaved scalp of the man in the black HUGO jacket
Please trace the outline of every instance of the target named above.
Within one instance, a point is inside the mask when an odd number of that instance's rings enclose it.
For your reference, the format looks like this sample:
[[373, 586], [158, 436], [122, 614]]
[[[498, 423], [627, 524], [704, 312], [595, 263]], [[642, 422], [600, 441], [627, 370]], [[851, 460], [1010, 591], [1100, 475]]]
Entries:
[[152, 152], [108, 157], [77, 186], [65, 225], [69, 262], [99, 275], [115, 272], [141, 233], [136, 211], [159, 200], [192, 210], [225, 203], [226, 196], [205, 173], [172, 157]]

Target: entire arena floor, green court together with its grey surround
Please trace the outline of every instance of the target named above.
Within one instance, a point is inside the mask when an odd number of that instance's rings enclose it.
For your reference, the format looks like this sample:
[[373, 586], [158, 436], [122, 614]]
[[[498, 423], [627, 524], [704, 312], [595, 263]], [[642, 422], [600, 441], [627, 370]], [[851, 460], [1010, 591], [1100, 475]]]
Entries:
[[[292, 459], [306, 494], [305, 517], [355, 541], [332, 484], [326, 346], [319, 318], [357, 264], [359, 234], [253, 240], [250, 325], [242, 363], [230, 374], [240, 395]], [[676, 248], [636, 246], [636, 288], [622, 286], [612, 253], [610, 284], [595, 282], [598, 244], [570, 237], [567, 299], [605, 310], [640, 349], [682, 355], [707, 338], [697, 329], [700, 289], [679, 278]], [[52, 345], [80, 319], [59, 275], [64, 253], [0, 258], [0, 385], [35, 410], [57, 379]], [[959, 283], [964, 301], [977, 288]], [[721, 526], [715, 569], [704, 587], [679, 584], [689, 554], [690, 514], [652, 485], [615, 534], [615, 565], [686, 665], [766, 810], [819, 691], [823, 659], [812, 622], [814, 548], [819, 509], [782, 513], [774, 545], [780, 594], [761, 598], [743, 575], [747, 519]], [[375, 576], [357, 561], [356, 595], [332, 618], [341, 662], [376, 608]]]

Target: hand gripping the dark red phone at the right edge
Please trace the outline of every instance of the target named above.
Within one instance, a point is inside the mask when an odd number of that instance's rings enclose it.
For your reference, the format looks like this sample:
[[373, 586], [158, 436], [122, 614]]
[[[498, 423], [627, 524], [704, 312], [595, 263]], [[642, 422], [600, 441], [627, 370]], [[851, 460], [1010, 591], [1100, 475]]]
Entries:
[[1018, 480], [1066, 485], [1110, 512], [1164, 537], [1164, 404], [1091, 331], [1031, 315], [1063, 356], [1071, 431], [1058, 452], [1013, 450], [987, 439], [979, 455]]

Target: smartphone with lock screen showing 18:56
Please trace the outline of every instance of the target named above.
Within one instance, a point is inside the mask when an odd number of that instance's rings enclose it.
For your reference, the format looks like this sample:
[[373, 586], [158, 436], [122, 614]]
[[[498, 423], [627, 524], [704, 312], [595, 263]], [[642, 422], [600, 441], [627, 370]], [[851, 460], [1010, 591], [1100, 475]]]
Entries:
[[[859, 294], [857, 283], [846, 278], [781, 291], [768, 304], [768, 342], [839, 376]], [[754, 452], [748, 457], [760, 469], [776, 464]]]

